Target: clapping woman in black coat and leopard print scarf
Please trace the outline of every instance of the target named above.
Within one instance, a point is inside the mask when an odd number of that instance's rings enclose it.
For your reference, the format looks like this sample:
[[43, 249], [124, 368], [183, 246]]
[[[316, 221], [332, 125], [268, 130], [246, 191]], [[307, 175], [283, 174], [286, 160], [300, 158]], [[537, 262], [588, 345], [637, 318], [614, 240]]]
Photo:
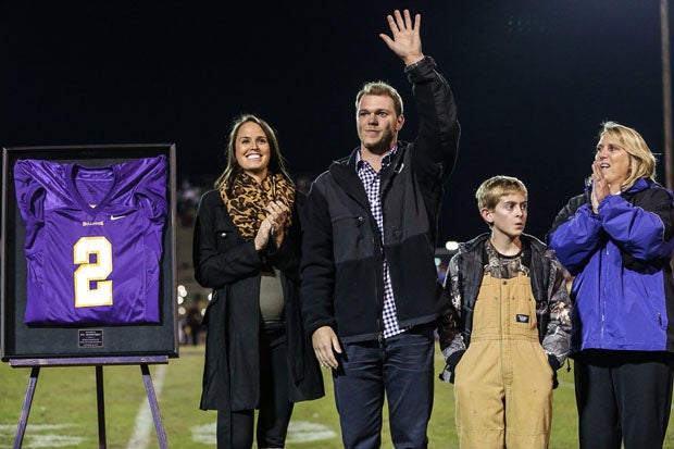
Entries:
[[226, 155], [195, 225], [195, 277], [213, 288], [201, 409], [217, 410], [219, 448], [252, 447], [253, 435], [280, 448], [294, 402], [324, 394], [300, 313], [296, 189], [262, 119], [234, 123]]

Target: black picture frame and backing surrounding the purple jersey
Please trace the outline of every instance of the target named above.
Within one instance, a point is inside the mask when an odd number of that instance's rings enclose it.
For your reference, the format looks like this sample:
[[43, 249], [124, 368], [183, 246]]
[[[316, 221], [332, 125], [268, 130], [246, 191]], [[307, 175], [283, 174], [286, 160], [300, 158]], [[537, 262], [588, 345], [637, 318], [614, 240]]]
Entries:
[[[178, 357], [175, 260], [176, 170], [174, 144], [8, 147], [2, 149], [2, 246], [0, 262], [0, 359]], [[160, 261], [159, 324], [27, 326], [25, 225], [17, 210], [13, 167], [18, 159], [101, 166], [164, 154], [168, 162], [170, 216]]]

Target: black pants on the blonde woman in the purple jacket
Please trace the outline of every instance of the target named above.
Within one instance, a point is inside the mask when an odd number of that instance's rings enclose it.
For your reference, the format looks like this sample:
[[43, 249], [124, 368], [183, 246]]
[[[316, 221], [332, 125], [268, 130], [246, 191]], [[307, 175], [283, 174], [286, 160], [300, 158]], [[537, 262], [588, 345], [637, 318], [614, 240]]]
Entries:
[[582, 449], [662, 448], [672, 406], [672, 356], [581, 352], [574, 362]]

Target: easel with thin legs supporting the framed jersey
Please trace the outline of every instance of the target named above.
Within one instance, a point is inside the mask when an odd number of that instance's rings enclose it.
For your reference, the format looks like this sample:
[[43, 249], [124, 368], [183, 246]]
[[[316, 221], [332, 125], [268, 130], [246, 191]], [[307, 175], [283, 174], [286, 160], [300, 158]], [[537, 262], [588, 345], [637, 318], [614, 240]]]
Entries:
[[24, 433], [26, 431], [26, 424], [28, 423], [28, 414], [30, 413], [30, 406], [33, 403], [33, 396], [35, 395], [35, 388], [37, 386], [37, 377], [40, 374], [40, 367], [42, 366], [96, 366], [96, 402], [98, 404], [98, 447], [103, 449], [107, 447], [105, 442], [105, 403], [103, 395], [103, 366], [104, 365], [140, 365], [140, 372], [142, 373], [142, 381], [145, 383], [145, 389], [148, 395], [148, 401], [150, 402], [150, 410], [152, 411], [152, 417], [154, 419], [154, 429], [157, 431], [157, 438], [159, 439], [159, 446], [162, 449], [166, 449], [166, 435], [164, 433], [164, 426], [162, 425], [162, 419], [159, 414], [159, 404], [157, 403], [157, 395], [154, 394], [154, 386], [152, 385], [152, 377], [150, 377], [150, 370], [148, 364], [168, 363], [168, 356], [148, 356], [148, 357], [96, 357], [96, 358], [72, 358], [72, 359], [10, 359], [10, 366], [12, 367], [32, 367], [30, 377], [28, 378], [28, 387], [26, 388], [26, 397], [24, 399], [23, 408], [21, 409], [21, 417], [18, 419], [18, 426], [16, 427], [16, 435], [14, 436], [14, 449], [20, 449], [23, 444]]

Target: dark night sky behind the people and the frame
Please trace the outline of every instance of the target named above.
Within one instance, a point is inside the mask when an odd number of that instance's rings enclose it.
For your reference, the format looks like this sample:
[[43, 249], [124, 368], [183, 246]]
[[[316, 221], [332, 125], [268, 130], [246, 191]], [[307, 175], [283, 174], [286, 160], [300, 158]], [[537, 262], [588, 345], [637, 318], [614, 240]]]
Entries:
[[232, 119], [253, 112], [291, 172], [313, 176], [358, 145], [365, 80], [398, 87], [400, 138], [413, 138], [402, 63], [377, 36], [410, 8], [463, 127], [442, 240], [486, 230], [473, 195], [495, 174], [527, 184], [527, 232], [542, 237], [589, 174], [604, 120], [662, 152], [658, 0], [228, 3], [1, 1], [0, 146], [175, 142], [178, 177], [212, 180]]

